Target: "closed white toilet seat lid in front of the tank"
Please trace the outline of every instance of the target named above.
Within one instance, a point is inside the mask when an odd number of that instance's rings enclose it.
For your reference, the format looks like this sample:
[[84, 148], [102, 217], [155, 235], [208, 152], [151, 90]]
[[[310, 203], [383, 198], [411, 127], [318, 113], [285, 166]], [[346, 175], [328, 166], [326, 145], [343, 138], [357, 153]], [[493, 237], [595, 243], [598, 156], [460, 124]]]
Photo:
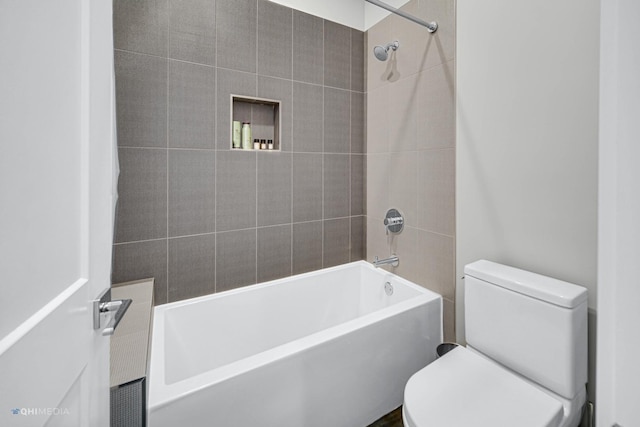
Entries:
[[404, 391], [411, 427], [555, 427], [560, 401], [465, 347], [415, 373]]

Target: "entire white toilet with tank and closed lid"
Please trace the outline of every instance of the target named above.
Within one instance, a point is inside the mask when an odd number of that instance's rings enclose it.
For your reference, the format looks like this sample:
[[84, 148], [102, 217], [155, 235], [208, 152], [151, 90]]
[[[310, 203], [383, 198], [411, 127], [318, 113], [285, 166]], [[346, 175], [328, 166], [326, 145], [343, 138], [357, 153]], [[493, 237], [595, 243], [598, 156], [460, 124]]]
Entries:
[[480, 260], [464, 269], [467, 346], [407, 382], [406, 427], [576, 427], [586, 402], [587, 291]]

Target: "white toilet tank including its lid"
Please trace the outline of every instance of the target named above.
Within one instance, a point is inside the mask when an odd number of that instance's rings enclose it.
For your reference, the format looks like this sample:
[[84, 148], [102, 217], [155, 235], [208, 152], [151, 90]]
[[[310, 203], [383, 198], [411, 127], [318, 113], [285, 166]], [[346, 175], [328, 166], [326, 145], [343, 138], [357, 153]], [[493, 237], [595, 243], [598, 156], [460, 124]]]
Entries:
[[480, 260], [465, 273], [467, 344], [572, 399], [587, 382], [587, 290]]

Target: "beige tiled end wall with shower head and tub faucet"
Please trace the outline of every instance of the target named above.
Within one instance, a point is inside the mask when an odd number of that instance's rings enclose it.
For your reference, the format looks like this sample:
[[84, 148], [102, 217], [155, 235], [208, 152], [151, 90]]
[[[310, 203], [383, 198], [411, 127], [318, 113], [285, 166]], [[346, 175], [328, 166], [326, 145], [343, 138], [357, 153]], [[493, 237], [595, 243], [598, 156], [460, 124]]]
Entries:
[[[367, 31], [367, 259], [400, 257], [394, 272], [444, 297], [445, 340], [455, 340], [455, 0], [411, 0]], [[371, 51], [395, 40], [386, 62]], [[390, 51], [391, 52], [391, 51]], [[390, 207], [405, 216], [385, 234]]]

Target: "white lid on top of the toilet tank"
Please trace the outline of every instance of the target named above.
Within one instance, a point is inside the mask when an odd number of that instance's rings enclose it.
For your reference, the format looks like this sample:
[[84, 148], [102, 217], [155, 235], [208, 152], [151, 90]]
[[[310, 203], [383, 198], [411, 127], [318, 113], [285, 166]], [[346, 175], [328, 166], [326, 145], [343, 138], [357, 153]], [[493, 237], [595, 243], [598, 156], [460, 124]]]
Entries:
[[464, 274], [560, 307], [574, 308], [587, 300], [582, 286], [487, 260], [467, 264]]

